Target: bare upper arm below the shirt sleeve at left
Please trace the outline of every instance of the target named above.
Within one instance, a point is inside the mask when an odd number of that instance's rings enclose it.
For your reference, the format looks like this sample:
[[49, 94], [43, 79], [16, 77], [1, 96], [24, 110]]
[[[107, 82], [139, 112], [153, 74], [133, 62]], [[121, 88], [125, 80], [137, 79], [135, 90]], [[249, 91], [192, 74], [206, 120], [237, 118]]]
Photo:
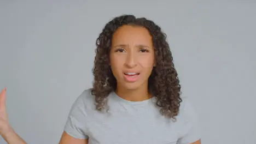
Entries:
[[[65, 131], [61, 136], [61, 140], [59, 144], [88, 144], [88, 139], [75, 139], [74, 137], [68, 135]], [[197, 144], [197, 143], [195, 143]]]

